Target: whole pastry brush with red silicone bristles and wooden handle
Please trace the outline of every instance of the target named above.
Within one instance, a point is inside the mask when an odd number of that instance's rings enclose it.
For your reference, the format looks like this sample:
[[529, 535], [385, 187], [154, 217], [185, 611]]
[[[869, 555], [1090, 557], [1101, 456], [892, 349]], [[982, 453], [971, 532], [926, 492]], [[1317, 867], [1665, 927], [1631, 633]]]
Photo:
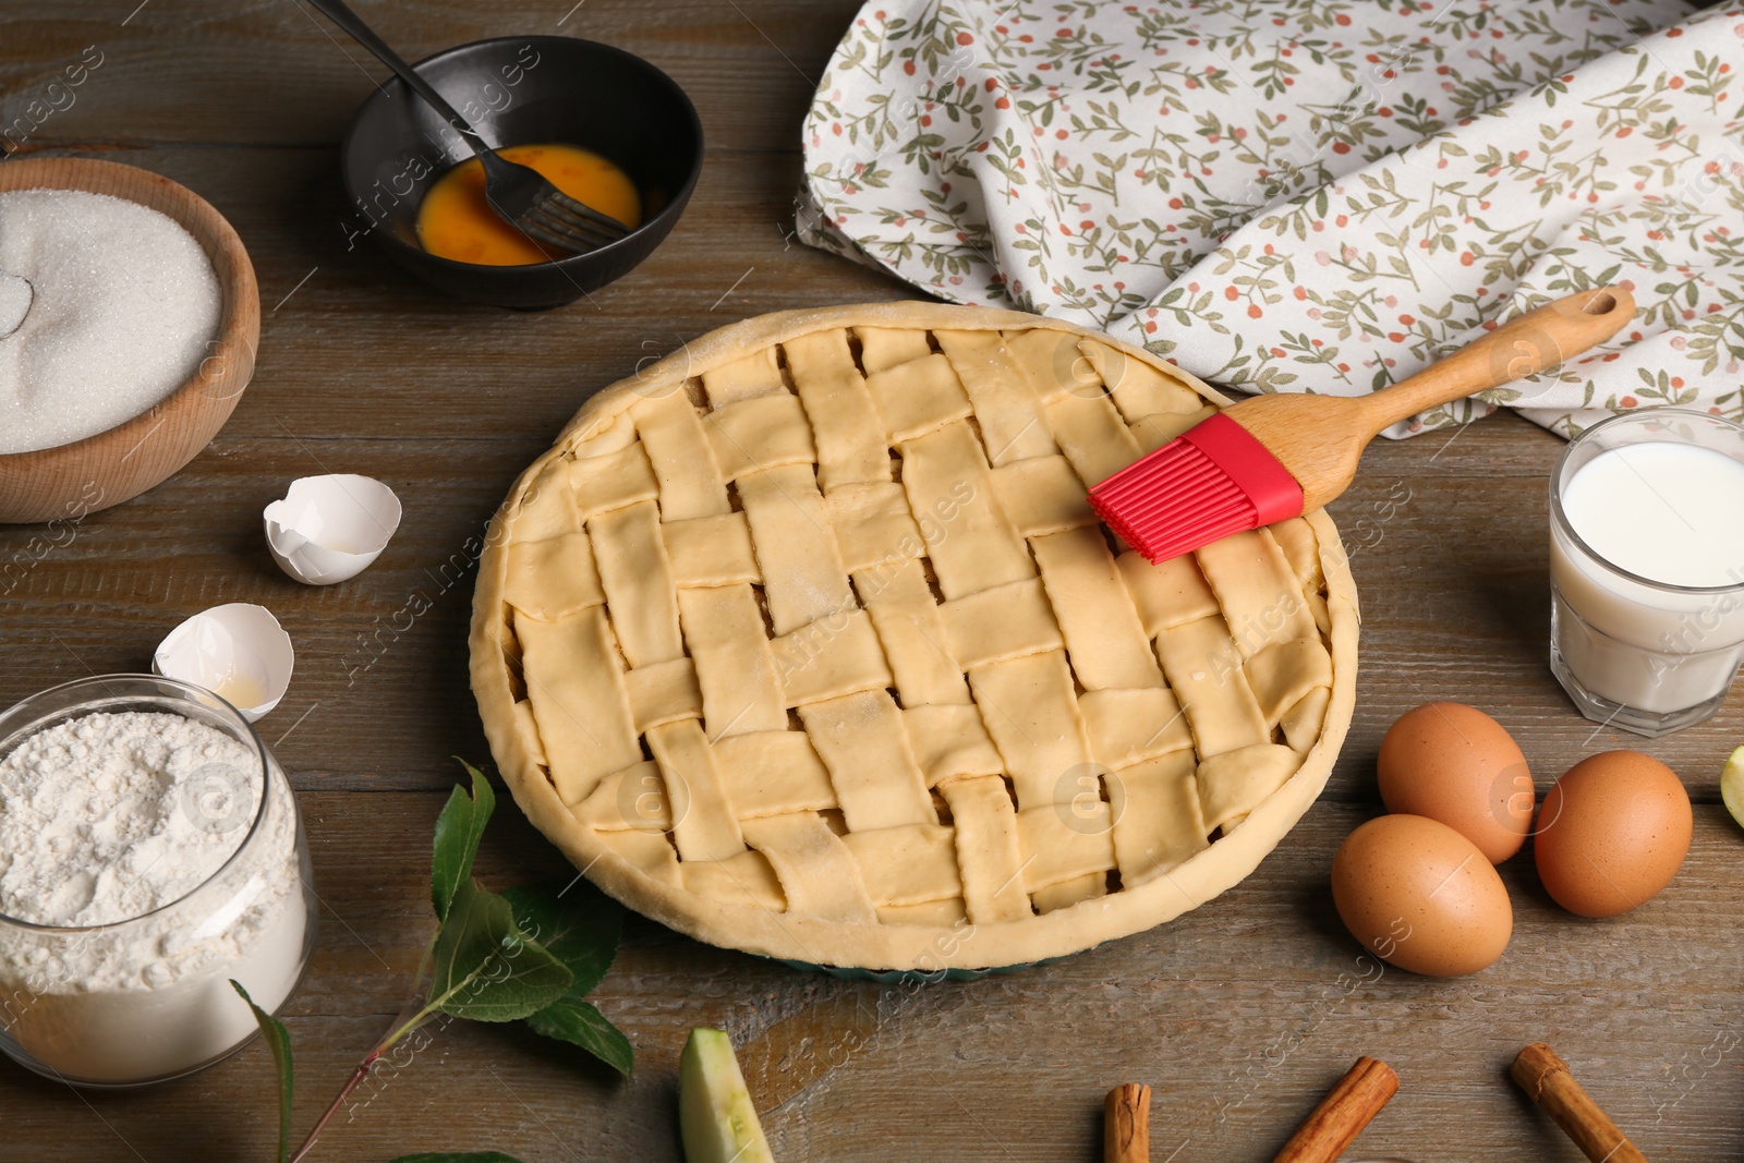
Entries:
[[1554, 368], [1632, 317], [1629, 291], [1580, 291], [1369, 396], [1243, 399], [1092, 488], [1090, 504], [1151, 561], [1299, 516], [1350, 486], [1362, 450], [1388, 424]]

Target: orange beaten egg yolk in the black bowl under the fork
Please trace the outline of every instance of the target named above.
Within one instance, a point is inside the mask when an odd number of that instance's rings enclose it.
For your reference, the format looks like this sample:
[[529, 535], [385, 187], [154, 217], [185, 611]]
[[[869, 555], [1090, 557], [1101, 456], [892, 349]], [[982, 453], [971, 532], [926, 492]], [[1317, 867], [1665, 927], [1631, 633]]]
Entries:
[[[563, 194], [631, 230], [642, 225], [642, 197], [630, 174], [591, 150], [553, 143], [511, 145], [497, 153], [539, 171]], [[419, 204], [419, 242], [439, 258], [485, 267], [523, 267], [570, 253], [534, 242], [490, 209], [485, 201], [485, 167], [476, 157], [445, 173], [424, 195]]]

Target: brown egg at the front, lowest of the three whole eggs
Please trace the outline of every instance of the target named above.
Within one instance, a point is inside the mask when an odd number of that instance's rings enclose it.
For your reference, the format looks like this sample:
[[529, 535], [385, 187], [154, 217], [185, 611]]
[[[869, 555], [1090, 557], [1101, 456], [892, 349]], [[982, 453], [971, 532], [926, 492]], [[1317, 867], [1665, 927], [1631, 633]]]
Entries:
[[1514, 935], [1495, 867], [1423, 816], [1381, 816], [1345, 837], [1332, 858], [1332, 901], [1364, 949], [1430, 976], [1477, 973]]

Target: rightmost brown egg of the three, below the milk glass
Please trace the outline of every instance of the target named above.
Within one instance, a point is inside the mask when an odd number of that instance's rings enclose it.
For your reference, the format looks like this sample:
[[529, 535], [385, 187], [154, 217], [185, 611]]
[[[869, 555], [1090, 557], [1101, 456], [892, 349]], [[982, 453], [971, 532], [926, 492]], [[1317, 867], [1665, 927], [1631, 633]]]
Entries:
[[1570, 767], [1543, 797], [1533, 853], [1557, 905], [1615, 917], [1671, 884], [1690, 853], [1690, 793], [1641, 752], [1604, 752]]

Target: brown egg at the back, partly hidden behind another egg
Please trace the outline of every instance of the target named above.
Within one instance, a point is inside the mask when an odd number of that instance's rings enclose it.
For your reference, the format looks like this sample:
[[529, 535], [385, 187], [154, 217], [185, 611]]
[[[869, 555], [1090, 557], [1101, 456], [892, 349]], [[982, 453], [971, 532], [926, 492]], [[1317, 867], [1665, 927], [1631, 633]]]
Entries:
[[1465, 703], [1425, 703], [1386, 729], [1376, 762], [1386, 811], [1428, 816], [1493, 865], [1521, 851], [1536, 795], [1526, 757], [1489, 715]]

